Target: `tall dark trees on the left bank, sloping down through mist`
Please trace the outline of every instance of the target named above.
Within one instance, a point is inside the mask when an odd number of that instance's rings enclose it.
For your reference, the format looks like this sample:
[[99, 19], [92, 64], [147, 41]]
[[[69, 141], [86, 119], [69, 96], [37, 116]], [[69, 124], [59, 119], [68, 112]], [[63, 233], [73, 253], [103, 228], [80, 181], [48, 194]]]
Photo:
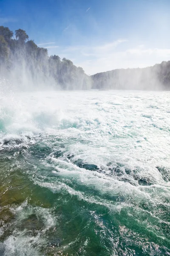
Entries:
[[91, 78], [81, 67], [59, 56], [48, 57], [45, 48], [38, 47], [23, 29], [14, 33], [0, 26], [0, 74], [25, 88], [50, 87], [61, 89], [88, 89]]

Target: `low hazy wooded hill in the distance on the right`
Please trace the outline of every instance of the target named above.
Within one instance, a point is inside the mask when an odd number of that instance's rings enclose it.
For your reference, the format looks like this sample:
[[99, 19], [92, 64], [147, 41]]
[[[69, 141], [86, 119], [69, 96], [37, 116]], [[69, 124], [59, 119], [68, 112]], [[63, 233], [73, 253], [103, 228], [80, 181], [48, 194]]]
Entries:
[[170, 90], [170, 61], [153, 67], [97, 73], [91, 79], [94, 89]]

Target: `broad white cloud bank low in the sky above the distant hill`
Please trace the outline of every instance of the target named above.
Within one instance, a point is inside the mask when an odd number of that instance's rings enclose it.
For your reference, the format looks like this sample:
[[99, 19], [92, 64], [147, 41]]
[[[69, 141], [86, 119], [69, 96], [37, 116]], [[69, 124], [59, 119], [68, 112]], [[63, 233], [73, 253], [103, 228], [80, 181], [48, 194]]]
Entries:
[[96, 46], [60, 47], [57, 53], [62, 58], [74, 59], [74, 64], [90, 75], [117, 68], [147, 67], [170, 59], [169, 48], [150, 48], [144, 45], [130, 47], [126, 39]]

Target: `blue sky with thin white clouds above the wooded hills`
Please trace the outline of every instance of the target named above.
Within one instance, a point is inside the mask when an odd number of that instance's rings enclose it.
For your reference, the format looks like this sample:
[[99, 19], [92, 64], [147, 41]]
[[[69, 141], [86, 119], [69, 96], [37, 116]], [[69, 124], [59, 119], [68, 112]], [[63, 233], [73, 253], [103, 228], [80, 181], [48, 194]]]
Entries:
[[0, 0], [0, 25], [87, 74], [170, 60], [170, 0]]

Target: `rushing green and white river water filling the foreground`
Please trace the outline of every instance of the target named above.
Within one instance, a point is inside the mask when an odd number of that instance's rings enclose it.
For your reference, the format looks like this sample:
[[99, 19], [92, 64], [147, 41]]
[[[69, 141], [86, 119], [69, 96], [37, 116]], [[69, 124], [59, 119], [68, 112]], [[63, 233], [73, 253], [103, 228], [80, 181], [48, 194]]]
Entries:
[[1, 95], [0, 255], [170, 255], [170, 93]]

